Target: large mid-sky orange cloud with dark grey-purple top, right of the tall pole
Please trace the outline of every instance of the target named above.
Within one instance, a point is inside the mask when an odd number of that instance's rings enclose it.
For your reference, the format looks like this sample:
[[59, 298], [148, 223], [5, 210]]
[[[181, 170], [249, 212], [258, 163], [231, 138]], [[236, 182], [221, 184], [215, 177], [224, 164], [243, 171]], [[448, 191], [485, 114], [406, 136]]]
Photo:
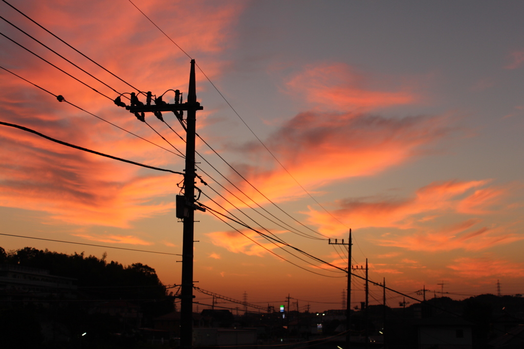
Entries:
[[[444, 118], [438, 117], [387, 119], [308, 112], [285, 123], [265, 144], [304, 188], [313, 191], [333, 181], [370, 176], [399, 165], [447, 133]], [[256, 166], [235, 167], [269, 199], [281, 202], [304, 195], [289, 173], [267, 158], [264, 148], [247, 144], [236, 150], [257, 159]], [[238, 178], [235, 173], [230, 177]], [[250, 184], [241, 181], [237, 186], [255, 201], [265, 201]], [[234, 198], [227, 199], [245, 206]]]

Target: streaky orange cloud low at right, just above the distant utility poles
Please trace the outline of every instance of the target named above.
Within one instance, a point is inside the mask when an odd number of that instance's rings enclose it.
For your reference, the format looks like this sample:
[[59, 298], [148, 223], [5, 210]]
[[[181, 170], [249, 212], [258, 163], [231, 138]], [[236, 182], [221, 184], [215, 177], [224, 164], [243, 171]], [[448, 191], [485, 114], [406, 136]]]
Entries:
[[[434, 182], [423, 187], [410, 199], [359, 201], [346, 200], [339, 203], [340, 209], [333, 214], [343, 217], [346, 225], [352, 228], [389, 227], [398, 233], [385, 234], [373, 238], [380, 246], [395, 246], [409, 250], [439, 251], [462, 248], [481, 250], [499, 244], [519, 241], [524, 237], [514, 232], [514, 228], [504, 225], [479, 226], [482, 220], [470, 217], [459, 223], [442, 224], [442, 221], [460, 219], [460, 215], [478, 214], [485, 216], [488, 208], [497, 202], [496, 198], [505, 194], [504, 190], [493, 188], [472, 189], [488, 184], [483, 181]], [[473, 204], [475, 202], [475, 204]], [[476, 210], [473, 210], [472, 207]], [[482, 208], [482, 210], [479, 210]], [[324, 211], [309, 208], [308, 221], [319, 226], [321, 233], [345, 234], [347, 228], [333, 220]], [[495, 213], [500, 213], [499, 211]], [[431, 216], [431, 225], [425, 217]], [[439, 219], [441, 217], [441, 219]]]

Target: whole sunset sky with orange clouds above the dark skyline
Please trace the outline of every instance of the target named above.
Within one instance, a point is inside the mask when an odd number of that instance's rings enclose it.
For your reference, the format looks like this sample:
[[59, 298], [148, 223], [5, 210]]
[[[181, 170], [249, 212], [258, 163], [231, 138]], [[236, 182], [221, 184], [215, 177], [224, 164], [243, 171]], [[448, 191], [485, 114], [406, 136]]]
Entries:
[[[128, 0], [8, 3], [140, 91], [179, 89], [185, 102], [196, 60], [197, 133], [227, 161], [197, 139], [197, 173], [209, 184], [197, 183], [201, 203], [342, 268], [347, 250], [328, 238], [347, 242], [351, 228], [352, 264], [367, 258], [370, 279], [419, 299], [423, 287], [429, 297], [496, 294], [497, 281], [503, 294], [524, 292], [523, 2], [133, 0], [174, 43]], [[5, 2], [0, 16], [118, 91], [1, 20], [2, 34], [110, 98], [0, 36], [1, 67], [99, 117], [0, 69], [0, 121], [182, 172], [171, 145], [185, 152], [183, 141], [147, 114], [168, 144], [111, 101], [136, 90]], [[2, 125], [0, 146], [0, 233], [181, 254], [180, 175]], [[261, 306], [289, 294], [301, 310], [342, 307], [345, 272], [209, 212], [195, 220], [196, 286]], [[106, 252], [155, 268], [166, 285], [181, 281], [177, 256], [0, 242]], [[363, 281], [352, 289], [356, 305]], [[379, 287], [370, 292], [381, 302]], [[387, 298], [390, 307], [402, 300]]]

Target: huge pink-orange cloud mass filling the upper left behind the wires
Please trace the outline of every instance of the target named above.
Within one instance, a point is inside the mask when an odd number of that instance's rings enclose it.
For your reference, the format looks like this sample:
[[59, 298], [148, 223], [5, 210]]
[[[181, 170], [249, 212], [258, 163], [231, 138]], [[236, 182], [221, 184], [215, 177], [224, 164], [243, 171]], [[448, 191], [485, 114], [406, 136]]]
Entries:
[[[204, 2], [194, 6], [184, 1], [161, 4], [155, 0], [136, 4], [187, 52], [199, 54], [201, 59], [197, 63], [208, 77], [213, 79], [221, 74], [223, 64], [227, 63], [217, 63], [215, 59], [208, 59], [208, 55], [214, 56], [234, 42], [232, 27], [243, 4], [223, 6]], [[4, 7], [10, 19], [16, 22], [20, 18], [14, 10]], [[159, 94], [172, 88], [187, 89], [189, 58], [130, 3], [95, 0], [88, 6], [78, 6], [51, 1], [17, 7], [140, 90]], [[173, 13], [176, 21], [172, 20]], [[42, 30], [34, 26], [25, 29], [119, 93], [133, 91]], [[116, 97], [116, 92], [46, 52], [16, 29], [7, 28], [5, 32], [111, 99]], [[93, 38], [96, 38], [96, 49], [93, 49]], [[176, 152], [147, 125], [112, 101], [4, 38], [0, 41], [9, 52], [3, 63], [6, 68], [129, 132]], [[197, 79], [205, 77], [197, 74]], [[0, 81], [2, 121], [148, 165], [179, 171], [183, 168], [179, 157], [67, 103], [59, 103], [52, 95], [5, 71], [0, 72]], [[165, 100], [172, 98], [170, 93]], [[143, 96], [140, 98], [144, 100]], [[174, 115], [165, 115], [165, 119], [176, 128]], [[148, 115], [146, 120], [175, 147], [183, 149], [182, 141], [154, 116]], [[176, 183], [181, 179], [178, 176], [157, 176], [152, 170], [85, 154], [4, 126], [0, 126], [0, 143], [0, 205], [46, 212], [48, 223], [128, 227], [130, 222], [174, 208], [168, 195], [178, 193]]]

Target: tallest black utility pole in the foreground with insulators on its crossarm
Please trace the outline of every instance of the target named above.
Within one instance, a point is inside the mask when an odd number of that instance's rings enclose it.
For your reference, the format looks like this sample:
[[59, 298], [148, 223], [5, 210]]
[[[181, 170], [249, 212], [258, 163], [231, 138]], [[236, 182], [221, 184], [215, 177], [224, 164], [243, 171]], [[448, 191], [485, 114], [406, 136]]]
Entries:
[[[194, 210], [205, 211], [195, 204], [195, 130], [196, 111], [203, 110], [199, 102], [196, 102], [195, 82], [195, 60], [191, 60], [189, 73], [188, 97], [182, 103], [181, 93], [176, 90], [174, 104], [162, 101], [162, 96], [155, 96], [155, 104], [151, 105], [152, 93], [147, 92], [147, 102], [144, 104], [138, 100], [136, 94], [130, 93], [130, 105], [121, 101], [121, 96], [115, 99], [115, 104], [125, 107], [130, 113], [145, 122], [145, 113], [154, 113], [163, 122], [161, 112], [173, 112], [182, 121], [183, 111], [187, 111], [185, 125], [185, 173], [184, 173], [184, 195], [177, 195], [177, 218], [183, 221], [182, 236], [182, 285], [180, 296], [180, 347], [191, 349], [193, 337], [193, 242], [194, 242]], [[143, 92], [140, 92], [143, 93]], [[145, 94], [145, 93], [144, 93]]]

